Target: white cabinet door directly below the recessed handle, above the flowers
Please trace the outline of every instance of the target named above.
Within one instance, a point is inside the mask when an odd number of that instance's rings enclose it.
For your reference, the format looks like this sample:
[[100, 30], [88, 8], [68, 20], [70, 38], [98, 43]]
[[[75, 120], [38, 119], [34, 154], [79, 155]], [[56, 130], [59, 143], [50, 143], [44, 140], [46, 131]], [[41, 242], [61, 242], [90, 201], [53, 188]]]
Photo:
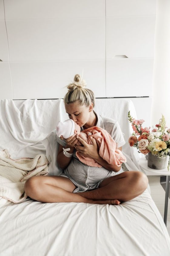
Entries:
[[106, 97], [151, 96], [153, 59], [106, 61]]

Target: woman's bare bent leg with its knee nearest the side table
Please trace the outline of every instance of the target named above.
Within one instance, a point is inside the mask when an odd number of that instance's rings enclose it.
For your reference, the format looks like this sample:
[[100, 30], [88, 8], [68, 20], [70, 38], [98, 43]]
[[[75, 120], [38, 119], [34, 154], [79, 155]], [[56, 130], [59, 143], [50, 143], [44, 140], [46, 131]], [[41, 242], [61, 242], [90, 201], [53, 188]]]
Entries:
[[127, 171], [102, 181], [99, 188], [78, 195], [93, 200], [117, 199], [120, 202], [129, 201], [141, 195], [148, 185], [147, 176], [139, 171]]

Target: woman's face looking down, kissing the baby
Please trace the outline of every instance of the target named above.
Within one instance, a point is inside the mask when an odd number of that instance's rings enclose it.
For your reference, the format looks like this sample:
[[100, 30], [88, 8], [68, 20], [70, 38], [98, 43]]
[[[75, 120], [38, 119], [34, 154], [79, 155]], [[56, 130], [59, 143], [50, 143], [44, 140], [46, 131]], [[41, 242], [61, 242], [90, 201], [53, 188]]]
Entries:
[[[65, 104], [65, 109], [68, 117], [79, 126], [83, 126], [89, 121], [90, 111], [93, 109], [93, 103], [89, 107], [81, 106], [78, 101], [70, 104]], [[90, 110], [90, 111], [89, 111]]]

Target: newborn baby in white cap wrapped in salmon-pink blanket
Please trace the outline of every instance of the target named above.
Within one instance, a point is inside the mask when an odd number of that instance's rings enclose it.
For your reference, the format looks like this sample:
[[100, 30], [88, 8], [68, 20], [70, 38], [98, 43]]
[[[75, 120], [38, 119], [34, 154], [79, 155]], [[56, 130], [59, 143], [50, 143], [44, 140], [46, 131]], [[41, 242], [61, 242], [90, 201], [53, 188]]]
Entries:
[[[122, 151], [117, 148], [117, 143], [114, 141], [114, 139], [112, 139], [110, 134], [105, 129], [98, 126], [93, 126], [83, 130], [82, 132], [80, 131], [80, 126], [72, 119], [68, 119], [64, 122], [59, 121], [56, 127], [57, 136], [60, 137], [62, 135], [64, 139], [68, 139], [74, 134], [78, 134], [79, 137], [87, 144], [93, 144], [90, 137], [96, 139], [99, 147], [99, 155], [109, 164], [121, 166], [123, 162], [126, 162], [126, 158]], [[83, 146], [80, 141], [77, 141], [75, 145]], [[78, 150], [75, 154], [81, 162], [89, 166], [102, 167], [94, 159], [84, 156]]]

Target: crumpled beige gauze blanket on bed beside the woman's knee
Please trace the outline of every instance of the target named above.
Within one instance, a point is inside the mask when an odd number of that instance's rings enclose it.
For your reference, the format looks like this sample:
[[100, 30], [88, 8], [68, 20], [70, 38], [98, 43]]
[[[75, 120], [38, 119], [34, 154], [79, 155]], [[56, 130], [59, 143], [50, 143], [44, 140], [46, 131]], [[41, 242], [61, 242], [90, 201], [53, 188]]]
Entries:
[[11, 159], [8, 151], [0, 151], [0, 196], [13, 202], [22, 202], [27, 195], [24, 184], [32, 176], [48, 175], [48, 160], [44, 154], [34, 158]]

